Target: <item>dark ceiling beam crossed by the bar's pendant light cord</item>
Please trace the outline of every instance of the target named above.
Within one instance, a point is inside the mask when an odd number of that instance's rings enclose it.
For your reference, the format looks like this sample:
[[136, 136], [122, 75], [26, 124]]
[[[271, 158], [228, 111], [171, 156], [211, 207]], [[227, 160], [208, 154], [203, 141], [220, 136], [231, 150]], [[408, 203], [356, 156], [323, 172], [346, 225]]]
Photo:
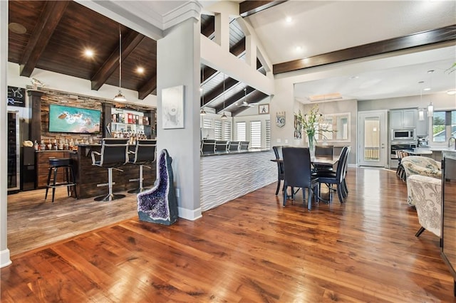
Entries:
[[[130, 55], [135, 48], [141, 43], [145, 36], [135, 31], [130, 31], [122, 38], [122, 60]], [[110, 78], [110, 76], [119, 68], [119, 46], [113, 50], [108, 59], [101, 65], [90, 79], [92, 90], [99, 90], [100, 87]]]

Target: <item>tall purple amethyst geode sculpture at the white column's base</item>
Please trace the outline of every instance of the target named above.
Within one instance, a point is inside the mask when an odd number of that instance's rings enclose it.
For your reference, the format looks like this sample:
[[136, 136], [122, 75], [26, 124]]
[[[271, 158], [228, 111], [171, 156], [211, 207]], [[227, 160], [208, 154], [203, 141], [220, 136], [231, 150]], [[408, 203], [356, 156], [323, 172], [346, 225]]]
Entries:
[[171, 225], [177, 220], [177, 199], [171, 167], [172, 158], [166, 149], [157, 161], [157, 181], [153, 188], [138, 193], [138, 216], [141, 221]]

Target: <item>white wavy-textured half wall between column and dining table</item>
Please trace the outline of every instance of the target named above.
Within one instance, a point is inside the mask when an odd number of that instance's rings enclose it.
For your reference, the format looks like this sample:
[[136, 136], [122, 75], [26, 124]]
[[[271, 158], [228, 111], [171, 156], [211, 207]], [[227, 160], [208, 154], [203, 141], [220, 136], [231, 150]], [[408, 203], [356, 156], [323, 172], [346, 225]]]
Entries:
[[202, 211], [277, 181], [272, 149], [204, 153], [200, 164]]

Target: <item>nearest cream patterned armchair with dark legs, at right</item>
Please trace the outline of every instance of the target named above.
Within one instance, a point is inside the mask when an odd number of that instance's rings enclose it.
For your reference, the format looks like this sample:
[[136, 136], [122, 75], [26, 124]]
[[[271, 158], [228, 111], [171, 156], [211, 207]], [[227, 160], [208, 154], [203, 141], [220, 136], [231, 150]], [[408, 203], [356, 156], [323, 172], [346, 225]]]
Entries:
[[442, 223], [442, 180], [429, 176], [412, 175], [407, 179], [407, 186], [415, 203], [416, 213], [421, 228], [415, 234], [419, 237], [429, 230], [440, 237]]

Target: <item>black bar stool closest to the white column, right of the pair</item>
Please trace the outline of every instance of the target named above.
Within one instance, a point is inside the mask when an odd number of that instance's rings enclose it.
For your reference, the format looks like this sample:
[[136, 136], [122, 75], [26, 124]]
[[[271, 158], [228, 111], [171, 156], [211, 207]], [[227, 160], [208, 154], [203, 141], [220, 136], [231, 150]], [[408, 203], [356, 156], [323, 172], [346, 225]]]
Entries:
[[140, 193], [141, 191], [147, 189], [142, 187], [142, 181], [144, 178], [142, 177], [143, 167], [147, 167], [147, 169], [152, 169], [150, 164], [155, 162], [156, 153], [155, 149], [157, 147], [157, 140], [153, 139], [142, 139], [138, 140], [135, 145], [134, 151], [129, 151], [130, 160], [128, 161], [130, 164], [136, 164], [140, 166], [140, 176], [138, 179], [130, 179], [129, 181], [139, 181], [139, 187], [128, 191], [128, 193]]

